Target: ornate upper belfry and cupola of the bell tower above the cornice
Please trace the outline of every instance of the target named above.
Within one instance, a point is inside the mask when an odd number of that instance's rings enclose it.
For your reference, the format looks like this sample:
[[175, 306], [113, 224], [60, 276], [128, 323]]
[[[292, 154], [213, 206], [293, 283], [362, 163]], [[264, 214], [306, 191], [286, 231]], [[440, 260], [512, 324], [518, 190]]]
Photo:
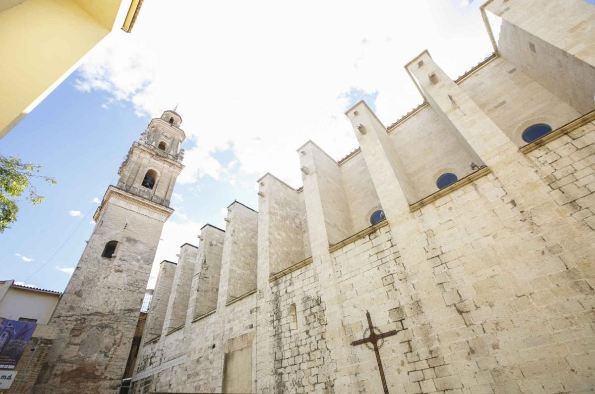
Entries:
[[180, 145], [186, 134], [180, 128], [181, 122], [181, 116], [174, 111], [165, 111], [160, 118], [151, 120], [118, 171], [118, 188], [170, 205], [176, 178], [184, 168], [184, 150]]

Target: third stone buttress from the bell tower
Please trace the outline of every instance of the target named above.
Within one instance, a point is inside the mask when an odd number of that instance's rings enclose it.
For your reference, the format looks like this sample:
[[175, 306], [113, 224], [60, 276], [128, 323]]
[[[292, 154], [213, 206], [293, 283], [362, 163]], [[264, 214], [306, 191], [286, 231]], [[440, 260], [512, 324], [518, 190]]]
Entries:
[[225, 232], [215, 226], [201, 229], [186, 324], [217, 308], [224, 237]]

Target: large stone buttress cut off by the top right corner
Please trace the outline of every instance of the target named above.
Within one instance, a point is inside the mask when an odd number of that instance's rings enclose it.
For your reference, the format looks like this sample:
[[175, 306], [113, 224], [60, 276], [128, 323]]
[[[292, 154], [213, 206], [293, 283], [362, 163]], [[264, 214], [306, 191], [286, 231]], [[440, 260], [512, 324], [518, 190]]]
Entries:
[[582, 0], [488, 2], [491, 33], [503, 58], [581, 114], [595, 94], [595, 11]]

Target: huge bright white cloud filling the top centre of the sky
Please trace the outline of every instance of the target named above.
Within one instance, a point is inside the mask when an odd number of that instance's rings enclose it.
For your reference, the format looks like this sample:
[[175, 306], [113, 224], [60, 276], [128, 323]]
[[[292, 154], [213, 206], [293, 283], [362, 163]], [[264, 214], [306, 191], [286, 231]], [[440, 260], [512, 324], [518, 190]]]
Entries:
[[[197, 24], [196, 15], [209, 17]], [[111, 33], [76, 86], [109, 92], [108, 106], [129, 101], [138, 114], [180, 103], [195, 143], [181, 184], [220, 179], [226, 168], [214, 153], [232, 149], [240, 173], [270, 171], [297, 187], [295, 150], [305, 141], [337, 159], [356, 147], [343, 114], [349, 92], [378, 92], [386, 125], [421, 103], [403, 65], [426, 48], [456, 78], [491, 46], [480, 13], [450, 1], [145, 2], [134, 34]]]

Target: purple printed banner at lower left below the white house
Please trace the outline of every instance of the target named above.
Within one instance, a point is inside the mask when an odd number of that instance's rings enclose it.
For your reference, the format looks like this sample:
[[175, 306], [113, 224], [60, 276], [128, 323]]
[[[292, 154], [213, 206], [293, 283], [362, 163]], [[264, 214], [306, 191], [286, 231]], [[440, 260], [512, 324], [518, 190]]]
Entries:
[[37, 323], [4, 319], [0, 323], [0, 370], [14, 370]]

